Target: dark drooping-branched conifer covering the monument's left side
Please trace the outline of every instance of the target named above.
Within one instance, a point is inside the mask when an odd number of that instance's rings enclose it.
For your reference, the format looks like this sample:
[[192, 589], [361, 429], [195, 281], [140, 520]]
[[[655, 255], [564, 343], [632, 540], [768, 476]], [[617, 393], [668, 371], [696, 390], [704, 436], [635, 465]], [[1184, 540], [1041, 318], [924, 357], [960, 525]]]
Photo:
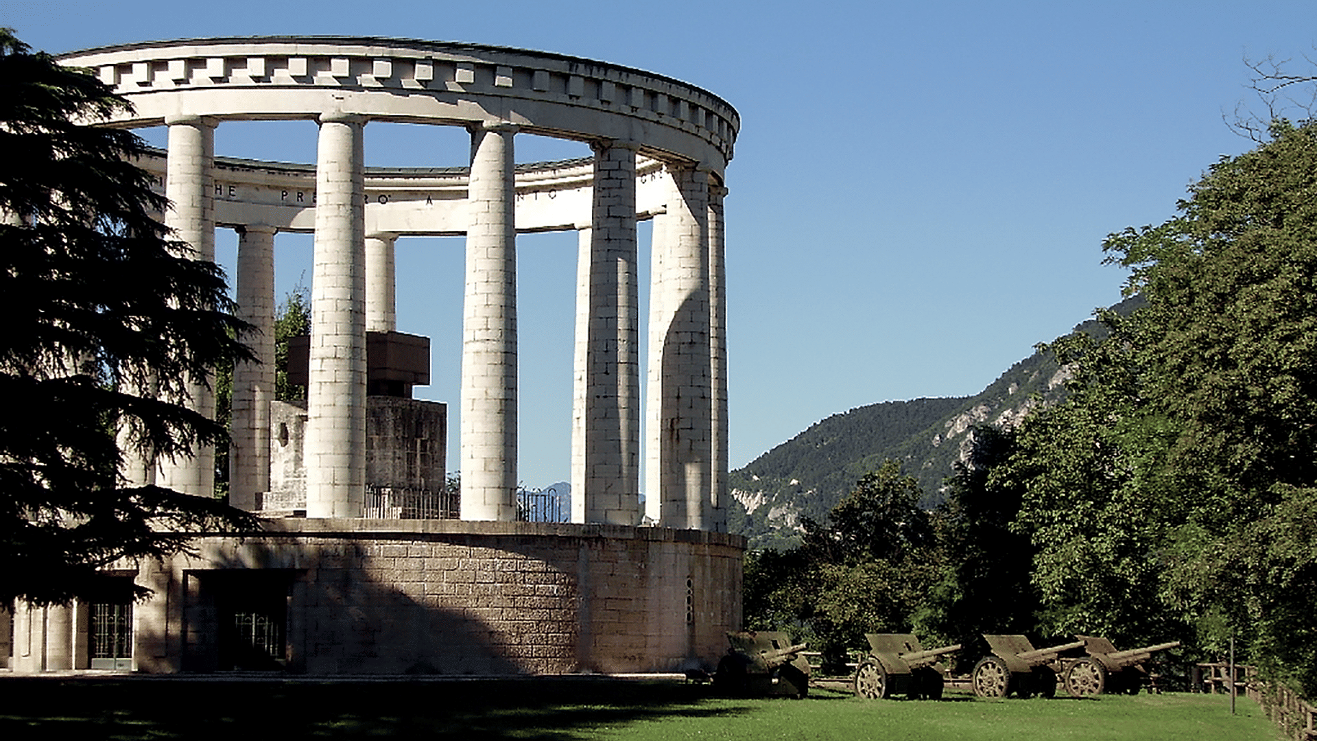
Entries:
[[[183, 381], [250, 357], [221, 272], [190, 258], [134, 160], [96, 127], [126, 103], [0, 29], [0, 603], [95, 596], [101, 567], [163, 556], [188, 531], [252, 521], [208, 497], [134, 487], [134, 454], [187, 456], [224, 438]], [[141, 389], [157, 393], [138, 393]]]

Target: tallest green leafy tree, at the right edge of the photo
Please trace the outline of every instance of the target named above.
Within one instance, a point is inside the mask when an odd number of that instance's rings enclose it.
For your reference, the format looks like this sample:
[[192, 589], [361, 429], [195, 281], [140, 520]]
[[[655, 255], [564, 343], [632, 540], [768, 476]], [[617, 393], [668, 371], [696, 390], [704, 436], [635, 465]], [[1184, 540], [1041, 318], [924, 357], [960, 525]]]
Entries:
[[[1148, 294], [1147, 479], [1188, 502], [1167, 597], [1227, 616], [1317, 692], [1317, 125], [1214, 163], [1181, 215], [1108, 241]], [[1306, 537], [1300, 535], [1306, 530]], [[1204, 570], [1208, 571], [1204, 571]], [[1210, 620], [1206, 621], [1210, 625]]]

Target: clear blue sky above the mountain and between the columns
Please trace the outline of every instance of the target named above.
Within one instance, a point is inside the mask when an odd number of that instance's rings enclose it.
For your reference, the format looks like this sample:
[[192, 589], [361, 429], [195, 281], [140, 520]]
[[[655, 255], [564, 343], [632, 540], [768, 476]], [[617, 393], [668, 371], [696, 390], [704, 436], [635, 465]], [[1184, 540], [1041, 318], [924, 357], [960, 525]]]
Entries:
[[[1173, 214], [1249, 140], [1242, 59], [1314, 57], [1317, 3], [7, 0], [51, 53], [145, 40], [350, 34], [558, 51], [705, 87], [741, 115], [727, 170], [731, 464], [830, 414], [981, 390], [1114, 303], [1100, 244]], [[1317, 58], [1317, 57], [1314, 57]], [[367, 127], [370, 165], [464, 165], [465, 133]], [[219, 154], [315, 160], [313, 124], [225, 124]], [[585, 156], [519, 137], [518, 158]], [[643, 231], [643, 240], [645, 232]], [[522, 454], [566, 480], [574, 235], [520, 240]], [[232, 261], [233, 239], [219, 239]], [[278, 241], [281, 294], [309, 240]], [[399, 330], [457, 401], [461, 240], [399, 241]], [[456, 438], [457, 421], [450, 419]], [[450, 440], [456, 464], [456, 439]]]

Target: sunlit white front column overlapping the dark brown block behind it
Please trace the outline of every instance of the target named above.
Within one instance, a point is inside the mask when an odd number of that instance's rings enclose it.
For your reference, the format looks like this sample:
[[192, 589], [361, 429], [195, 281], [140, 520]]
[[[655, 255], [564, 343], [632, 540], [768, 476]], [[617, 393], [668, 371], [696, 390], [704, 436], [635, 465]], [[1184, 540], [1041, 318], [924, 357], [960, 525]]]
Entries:
[[361, 517], [366, 487], [363, 119], [320, 116], [307, 376], [307, 517]]

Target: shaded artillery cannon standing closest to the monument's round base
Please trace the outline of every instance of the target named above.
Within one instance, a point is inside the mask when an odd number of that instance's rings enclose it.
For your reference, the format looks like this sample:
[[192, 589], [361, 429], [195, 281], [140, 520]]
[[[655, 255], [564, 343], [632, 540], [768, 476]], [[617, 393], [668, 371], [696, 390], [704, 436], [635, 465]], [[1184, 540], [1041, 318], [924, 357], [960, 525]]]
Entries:
[[714, 687], [730, 695], [803, 697], [810, 691], [807, 646], [780, 630], [727, 633], [731, 647], [718, 662]]

